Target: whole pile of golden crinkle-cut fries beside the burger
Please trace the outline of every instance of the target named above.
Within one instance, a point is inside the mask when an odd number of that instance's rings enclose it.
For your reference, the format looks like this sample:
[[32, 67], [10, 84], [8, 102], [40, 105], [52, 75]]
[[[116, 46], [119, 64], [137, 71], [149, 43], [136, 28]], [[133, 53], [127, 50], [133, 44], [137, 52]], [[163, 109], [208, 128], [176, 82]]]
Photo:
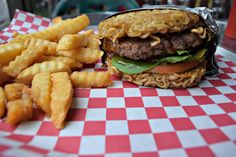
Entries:
[[0, 45], [0, 118], [6, 115], [6, 123], [14, 125], [31, 119], [37, 107], [62, 129], [73, 87], [111, 84], [109, 70], [78, 71], [103, 55], [93, 30], [81, 33], [88, 25], [86, 15], [55, 18], [42, 31], [25, 35], [15, 32], [11, 41]]

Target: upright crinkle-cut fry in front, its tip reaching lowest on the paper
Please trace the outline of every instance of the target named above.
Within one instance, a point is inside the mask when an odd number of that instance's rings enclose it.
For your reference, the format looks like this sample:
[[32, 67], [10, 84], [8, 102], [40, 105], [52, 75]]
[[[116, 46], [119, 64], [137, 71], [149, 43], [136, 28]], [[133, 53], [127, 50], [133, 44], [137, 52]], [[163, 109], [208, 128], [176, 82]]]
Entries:
[[64, 121], [72, 104], [73, 88], [66, 72], [51, 74], [51, 120], [57, 129], [64, 127]]

